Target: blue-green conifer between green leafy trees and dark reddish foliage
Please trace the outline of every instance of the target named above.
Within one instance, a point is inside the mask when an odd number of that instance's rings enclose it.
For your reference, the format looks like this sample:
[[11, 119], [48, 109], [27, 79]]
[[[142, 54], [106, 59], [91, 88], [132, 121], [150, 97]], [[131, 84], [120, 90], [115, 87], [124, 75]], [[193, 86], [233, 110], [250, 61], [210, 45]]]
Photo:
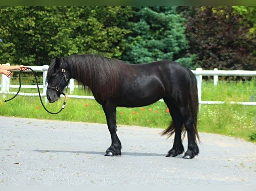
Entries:
[[186, 52], [185, 19], [176, 13], [176, 6], [136, 6], [133, 10], [129, 22], [132, 33], [127, 37], [123, 60], [145, 63], [179, 59], [183, 65], [191, 65]]

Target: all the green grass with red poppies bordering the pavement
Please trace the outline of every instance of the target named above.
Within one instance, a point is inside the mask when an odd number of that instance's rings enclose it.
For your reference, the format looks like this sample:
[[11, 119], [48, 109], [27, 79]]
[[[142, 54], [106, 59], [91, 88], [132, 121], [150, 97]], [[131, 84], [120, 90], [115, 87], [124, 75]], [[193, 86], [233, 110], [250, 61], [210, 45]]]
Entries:
[[[16, 90], [11, 91], [15, 92]], [[31, 90], [24, 89], [21, 92], [32, 93]], [[33, 90], [33, 93], [36, 92]], [[203, 82], [202, 85], [202, 100], [206, 101], [250, 101], [252, 94], [256, 96], [255, 80], [245, 83], [219, 82], [217, 86], [214, 86], [213, 83]], [[85, 95], [85, 93], [83, 90], [75, 89], [74, 95]], [[6, 99], [12, 96], [6, 95]], [[103, 109], [95, 100], [67, 98], [66, 102], [66, 107], [62, 112], [52, 115], [43, 109], [39, 97], [18, 95], [13, 100], [4, 103], [3, 96], [0, 96], [0, 115], [106, 123]], [[56, 112], [61, 108], [62, 103], [63, 98], [52, 104], [46, 102], [46, 108]], [[167, 106], [162, 101], [145, 107], [118, 107], [117, 124], [166, 128], [171, 121], [166, 108]], [[228, 103], [201, 105], [198, 115], [198, 130], [241, 137], [256, 142], [256, 106]]]

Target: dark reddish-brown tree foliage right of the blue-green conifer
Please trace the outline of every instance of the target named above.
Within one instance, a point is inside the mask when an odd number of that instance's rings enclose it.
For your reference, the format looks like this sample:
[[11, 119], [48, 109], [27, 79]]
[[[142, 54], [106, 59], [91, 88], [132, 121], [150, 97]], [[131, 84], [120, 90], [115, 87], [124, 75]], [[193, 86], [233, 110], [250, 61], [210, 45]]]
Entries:
[[194, 62], [204, 69], [255, 70], [256, 39], [248, 37], [250, 27], [242, 19], [231, 6], [194, 6], [186, 22]]

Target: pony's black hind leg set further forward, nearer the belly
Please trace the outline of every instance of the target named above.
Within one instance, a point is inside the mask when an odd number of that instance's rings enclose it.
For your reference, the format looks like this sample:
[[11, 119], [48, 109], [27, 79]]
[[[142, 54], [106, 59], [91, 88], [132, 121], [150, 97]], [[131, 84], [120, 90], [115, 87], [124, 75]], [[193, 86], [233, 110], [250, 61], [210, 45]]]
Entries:
[[174, 142], [172, 148], [168, 151], [167, 157], [174, 157], [184, 152], [184, 147], [182, 145], [181, 140], [181, 132], [182, 132], [182, 116], [180, 111], [176, 108], [174, 104], [171, 103], [168, 99], [164, 98], [164, 102], [169, 108], [169, 112], [172, 118], [172, 122], [169, 127], [162, 132], [162, 135], [169, 134], [169, 136], [174, 134]]

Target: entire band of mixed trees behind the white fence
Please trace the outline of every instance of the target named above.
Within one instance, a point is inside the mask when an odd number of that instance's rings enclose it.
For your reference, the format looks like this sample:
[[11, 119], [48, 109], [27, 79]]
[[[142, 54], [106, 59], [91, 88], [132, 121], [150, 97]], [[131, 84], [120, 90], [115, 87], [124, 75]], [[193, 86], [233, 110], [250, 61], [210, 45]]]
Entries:
[[0, 6], [0, 62], [72, 54], [191, 69], [256, 68], [255, 6]]

